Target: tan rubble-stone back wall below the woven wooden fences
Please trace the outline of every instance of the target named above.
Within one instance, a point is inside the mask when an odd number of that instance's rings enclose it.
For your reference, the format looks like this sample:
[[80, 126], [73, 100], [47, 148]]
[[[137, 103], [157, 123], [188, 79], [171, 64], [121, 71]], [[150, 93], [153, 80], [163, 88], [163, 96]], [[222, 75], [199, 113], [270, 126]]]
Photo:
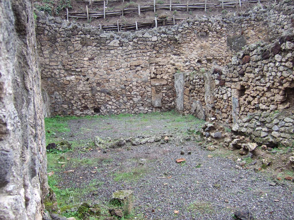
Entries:
[[269, 40], [266, 16], [268, 10], [256, 8], [157, 30], [102, 32], [39, 13], [46, 112], [108, 115], [173, 109], [173, 75], [226, 65], [246, 43]]

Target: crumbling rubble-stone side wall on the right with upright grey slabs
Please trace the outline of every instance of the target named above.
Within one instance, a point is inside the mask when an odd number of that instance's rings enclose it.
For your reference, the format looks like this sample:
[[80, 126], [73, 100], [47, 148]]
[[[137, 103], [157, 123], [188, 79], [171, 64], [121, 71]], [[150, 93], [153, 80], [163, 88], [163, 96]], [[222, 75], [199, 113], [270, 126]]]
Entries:
[[216, 118], [255, 142], [292, 146], [294, 3], [268, 12], [268, 40], [243, 47], [225, 67], [186, 74], [184, 113]]

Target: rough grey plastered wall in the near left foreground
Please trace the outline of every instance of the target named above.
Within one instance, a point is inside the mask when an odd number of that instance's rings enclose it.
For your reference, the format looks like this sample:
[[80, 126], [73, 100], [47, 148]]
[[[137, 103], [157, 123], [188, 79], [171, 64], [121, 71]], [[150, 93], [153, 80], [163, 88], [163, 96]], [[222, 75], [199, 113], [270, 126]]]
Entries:
[[46, 148], [31, 1], [0, 1], [0, 20], [0, 219], [41, 220]]

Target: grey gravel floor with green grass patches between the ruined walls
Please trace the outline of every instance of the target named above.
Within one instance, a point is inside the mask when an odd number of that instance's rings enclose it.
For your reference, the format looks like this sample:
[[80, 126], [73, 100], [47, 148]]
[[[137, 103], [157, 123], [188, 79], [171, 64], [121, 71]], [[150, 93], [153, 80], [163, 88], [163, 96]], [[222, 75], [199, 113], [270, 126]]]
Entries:
[[[57, 128], [58, 123], [66, 129]], [[205, 150], [206, 144], [193, 132], [202, 123], [174, 112], [47, 122], [47, 143], [64, 139], [73, 145], [66, 153], [47, 156], [48, 172], [54, 171], [49, 185], [57, 191], [61, 211], [70, 217], [75, 206], [88, 201], [105, 208], [93, 219], [104, 219], [112, 193], [131, 189], [135, 200], [129, 219], [233, 219], [239, 209], [250, 210], [255, 219], [293, 219], [294, 184], [277, 180], [286, 174], [240, 168], [235, 151]], [[108, 141], [135, 136], [161, 140], [136, 146], [129, 141], [105, 151], [94, 146], [95, 136]], [[186, 162], [176, 163], [178, 158]]]

